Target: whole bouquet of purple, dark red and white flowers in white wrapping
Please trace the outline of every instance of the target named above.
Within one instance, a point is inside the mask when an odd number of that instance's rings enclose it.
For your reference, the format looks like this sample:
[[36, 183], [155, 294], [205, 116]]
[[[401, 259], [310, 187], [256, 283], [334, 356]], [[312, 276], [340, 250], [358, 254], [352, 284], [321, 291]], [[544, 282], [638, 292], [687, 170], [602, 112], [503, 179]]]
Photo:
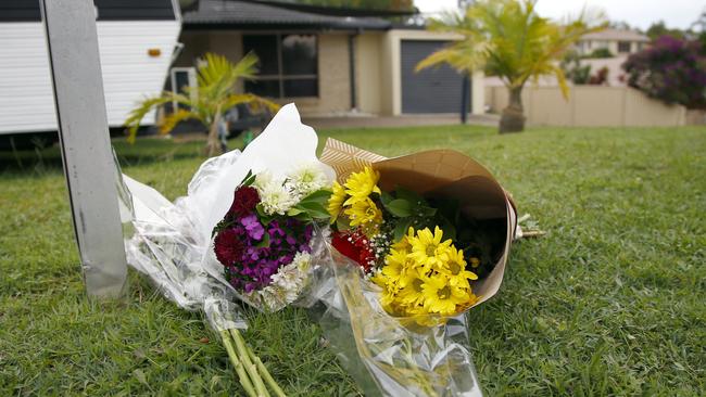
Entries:
[[335, 177], [317, 144], [290, 104], [243, 152], [205, 161], [174, 202], [118, 169], [128, 264], [175, 304], [204, 312], [249, 396], [285, 394], [243, 340], [236, 303], [276, 310], [304, 290]]

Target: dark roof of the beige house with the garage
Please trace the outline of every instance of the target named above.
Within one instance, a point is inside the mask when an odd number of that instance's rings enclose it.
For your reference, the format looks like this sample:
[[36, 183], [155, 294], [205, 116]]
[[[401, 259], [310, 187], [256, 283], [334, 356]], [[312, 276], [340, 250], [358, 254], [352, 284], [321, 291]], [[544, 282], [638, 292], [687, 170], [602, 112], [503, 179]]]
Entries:
[[378, 17], [332, 16], [274, 4], [238, 0], [199, 0], [182, 11], [185, 29], [240, 28], [325, 28], [388, 29], [389, 21]]

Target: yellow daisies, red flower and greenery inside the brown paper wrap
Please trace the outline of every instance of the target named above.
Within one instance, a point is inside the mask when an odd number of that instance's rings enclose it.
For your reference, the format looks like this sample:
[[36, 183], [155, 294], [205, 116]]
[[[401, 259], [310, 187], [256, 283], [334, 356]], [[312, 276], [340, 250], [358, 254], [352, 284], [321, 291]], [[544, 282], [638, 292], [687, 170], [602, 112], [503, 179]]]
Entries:
[[474, 305], [483, 256], [458, 204], [401, 187], [384, 192], [379, 178], [366, 167], [333, 182], [331, 245], [382, 287], [380, 303], [393, 316], [452, 316]]

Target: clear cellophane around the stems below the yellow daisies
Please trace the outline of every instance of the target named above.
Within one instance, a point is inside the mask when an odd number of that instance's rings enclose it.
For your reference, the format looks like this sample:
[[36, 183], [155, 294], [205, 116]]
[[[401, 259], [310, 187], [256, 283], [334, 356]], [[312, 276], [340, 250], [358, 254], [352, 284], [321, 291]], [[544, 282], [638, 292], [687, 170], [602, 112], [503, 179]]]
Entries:
[[465, 313], [399, 318], [361, 267], [328, 247], [314, 313], [330, 348], [366, 396], [482, 396]]

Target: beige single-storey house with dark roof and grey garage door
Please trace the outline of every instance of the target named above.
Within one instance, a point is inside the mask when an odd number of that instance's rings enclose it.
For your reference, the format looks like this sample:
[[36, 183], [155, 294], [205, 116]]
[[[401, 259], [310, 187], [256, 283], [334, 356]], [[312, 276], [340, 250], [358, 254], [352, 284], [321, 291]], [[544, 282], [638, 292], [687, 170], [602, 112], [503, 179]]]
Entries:
[[[205, 52], [232, 61], [254, 52], [260, 74], [243, 89], [304, 116], [458, 113], [462, 76], [447, 66], [415, 73], [415, 65], [450, 40], [420, 26], [290, 3], [199, 0], [182, 10], [184, 49], [169, 89], [196, 86]], [[471, 111], [482, 112], [482, 75], [474, 76]]]

